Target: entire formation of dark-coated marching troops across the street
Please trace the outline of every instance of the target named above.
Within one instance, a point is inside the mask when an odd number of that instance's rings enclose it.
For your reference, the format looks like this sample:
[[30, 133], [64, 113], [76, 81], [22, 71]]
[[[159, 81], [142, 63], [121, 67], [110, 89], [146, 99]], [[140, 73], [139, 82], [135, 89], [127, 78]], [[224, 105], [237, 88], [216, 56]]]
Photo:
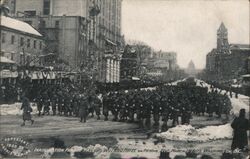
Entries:
[[98, 94], [95, 89], [79, 89], [71, 83], [43, 84], [32, 85], [26, 96], [36, 103], [38, 116], [74, 116], [86, 122], [89, 116], [96, 115], [100, 120], [103, 115], [104, 120], [136, 122], [148, 129], [159, 127], [162, 121], [162, 131], [169, 126], [189, 124], [192, 114], [227, 117], [231, 110], [226, 94], [189, 84]]

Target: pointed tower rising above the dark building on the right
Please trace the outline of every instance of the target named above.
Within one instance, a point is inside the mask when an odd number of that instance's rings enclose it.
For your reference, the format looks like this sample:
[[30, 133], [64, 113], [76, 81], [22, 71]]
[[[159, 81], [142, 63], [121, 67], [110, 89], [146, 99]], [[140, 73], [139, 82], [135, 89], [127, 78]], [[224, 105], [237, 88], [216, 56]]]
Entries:
[[217, 50], [218, 53], [228, 53], [229, 43], [228, 43], [228, 33], [227, 28], [222, 22], [219, 29], [217, 30]]

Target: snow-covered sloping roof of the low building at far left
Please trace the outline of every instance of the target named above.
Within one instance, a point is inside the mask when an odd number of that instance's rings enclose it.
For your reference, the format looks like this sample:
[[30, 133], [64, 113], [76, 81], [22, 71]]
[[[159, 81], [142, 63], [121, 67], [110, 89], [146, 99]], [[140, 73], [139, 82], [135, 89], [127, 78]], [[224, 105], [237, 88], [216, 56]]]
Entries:
[[6, 17], [3, 15], [0, 18], [1, 18], [1, 24], [0, 24], [1, 26], [14, 29], [14, 30], [18, 30], [24, 33], [33, 34], [36, 36], [42, 36], [36, 29], [34, 29], [28, 23], [25, 23], [20, 20], [16, 20], [14, 18]]

